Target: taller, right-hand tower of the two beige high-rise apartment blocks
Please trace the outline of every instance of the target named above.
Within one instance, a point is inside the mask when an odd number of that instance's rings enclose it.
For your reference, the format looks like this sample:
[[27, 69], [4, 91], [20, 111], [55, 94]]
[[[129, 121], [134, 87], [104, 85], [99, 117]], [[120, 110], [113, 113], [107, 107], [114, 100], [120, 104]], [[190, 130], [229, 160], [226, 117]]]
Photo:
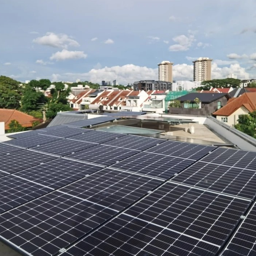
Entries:
[[194, 81], [211, 80], [212, 59], [200, 57], [194, 63]]

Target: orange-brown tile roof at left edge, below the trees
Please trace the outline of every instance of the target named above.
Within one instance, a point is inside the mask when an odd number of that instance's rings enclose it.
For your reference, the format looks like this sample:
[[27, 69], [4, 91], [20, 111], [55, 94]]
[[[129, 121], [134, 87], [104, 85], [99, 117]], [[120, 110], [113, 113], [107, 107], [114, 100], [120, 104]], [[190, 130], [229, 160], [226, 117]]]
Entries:
[[4, 129], [9, 129], [9, 123], [12, 120], [18, 121], [23, 127], [32, 127], [34, 121], [42, 121], [18, 110], [9, 110], [0, 108], [0, 122], [4, 122]]

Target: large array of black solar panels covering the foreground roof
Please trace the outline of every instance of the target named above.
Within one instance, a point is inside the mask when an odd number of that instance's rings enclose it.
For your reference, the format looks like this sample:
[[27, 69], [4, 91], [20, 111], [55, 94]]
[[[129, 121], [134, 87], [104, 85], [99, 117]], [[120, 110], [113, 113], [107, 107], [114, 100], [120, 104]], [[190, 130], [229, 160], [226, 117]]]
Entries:
[[0, 143], [0, 240], [22, 255], [255, 254], [255, 152], [72, 125], [29, 133]]

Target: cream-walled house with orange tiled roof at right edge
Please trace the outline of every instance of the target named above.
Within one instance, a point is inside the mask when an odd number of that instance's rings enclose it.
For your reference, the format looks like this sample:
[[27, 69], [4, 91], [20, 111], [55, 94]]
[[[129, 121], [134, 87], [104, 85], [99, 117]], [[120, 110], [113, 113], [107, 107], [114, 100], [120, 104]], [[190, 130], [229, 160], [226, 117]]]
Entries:
[[256, 110], [256, 92], [246, 92], [238, 98], [231, 98], [227, 105], [212, 113], [217, 120], [234, 126], [240, 115]]

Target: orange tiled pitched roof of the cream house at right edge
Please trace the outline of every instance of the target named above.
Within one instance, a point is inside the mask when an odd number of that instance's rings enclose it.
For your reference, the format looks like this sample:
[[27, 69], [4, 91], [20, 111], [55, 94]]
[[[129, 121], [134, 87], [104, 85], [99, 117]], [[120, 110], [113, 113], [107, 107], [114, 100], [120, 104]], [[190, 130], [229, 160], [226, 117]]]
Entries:
[[212, 114], [217, 116], [230, 116], [242, 106], [244, 106], [249, 112], [256, 110], [256, 92], [245, 92], [238, 98], [230, 99], [226, 106]]

